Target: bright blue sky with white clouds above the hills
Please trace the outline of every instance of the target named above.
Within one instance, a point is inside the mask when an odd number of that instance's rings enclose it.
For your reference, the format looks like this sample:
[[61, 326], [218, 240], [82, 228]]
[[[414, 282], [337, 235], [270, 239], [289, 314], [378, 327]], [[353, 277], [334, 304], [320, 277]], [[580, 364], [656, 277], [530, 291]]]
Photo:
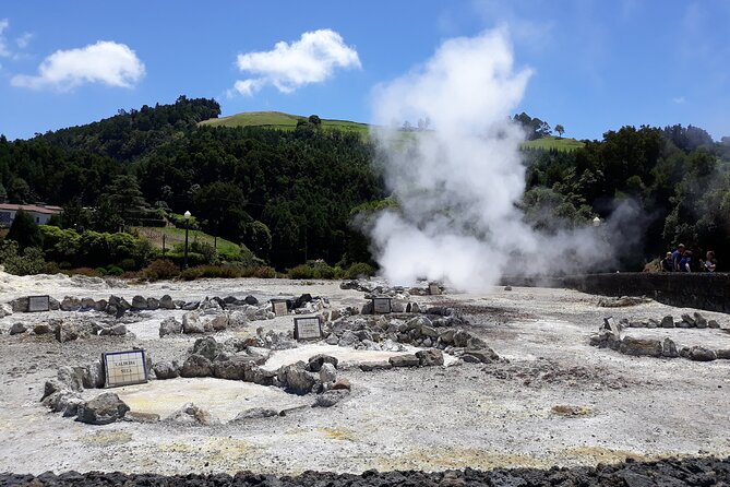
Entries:
[[223, 115], [369, 121], [373, 86], [495, 26], [508, 28], [516, 68], [534, 71], [518, 110], [566, 136], [674, 123], [730, 135], [725, 0], [8, 0], [0, 133], [28, 138], [181, 94], [214, 97]]

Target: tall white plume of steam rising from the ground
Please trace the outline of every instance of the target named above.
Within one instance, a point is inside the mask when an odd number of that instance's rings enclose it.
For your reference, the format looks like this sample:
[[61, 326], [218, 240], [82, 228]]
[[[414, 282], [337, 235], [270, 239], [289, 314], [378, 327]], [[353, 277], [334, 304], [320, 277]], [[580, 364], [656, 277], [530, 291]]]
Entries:
[[[525, 191], [524, 133], [510, 114], [530, 74], [514, 68], [505, 32], [491, 31], [445, 41], [375, 90], [379, 159], [399, 207], [380, 213], [370, 234], [391, 282], [479, 290], [503, 274], [585, 271], [610, 258], [596, 228], [542, 235], [515, 205]], [[404, 120], [428, 128], [393, 128]]]

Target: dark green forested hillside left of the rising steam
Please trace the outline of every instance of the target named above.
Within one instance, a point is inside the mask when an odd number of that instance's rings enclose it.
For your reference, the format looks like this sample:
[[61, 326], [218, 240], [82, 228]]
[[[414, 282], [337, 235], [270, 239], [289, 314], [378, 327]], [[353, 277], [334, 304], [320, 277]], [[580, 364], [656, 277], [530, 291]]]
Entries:
[[[350, 211], [384, 198], [367, 138], [323, 129], [199, 127], [214, 100], [180, 97], [27, 141], [0, 139], [0, 195], [11, 202], [93, 206], [85, 228], [176, 219], [244, 242], [283, 269], [308, 259], [368, 260]], [[141, 191], [141, 192], [140, 192]], [[104, 216], [101, 216], [104, 215]]]

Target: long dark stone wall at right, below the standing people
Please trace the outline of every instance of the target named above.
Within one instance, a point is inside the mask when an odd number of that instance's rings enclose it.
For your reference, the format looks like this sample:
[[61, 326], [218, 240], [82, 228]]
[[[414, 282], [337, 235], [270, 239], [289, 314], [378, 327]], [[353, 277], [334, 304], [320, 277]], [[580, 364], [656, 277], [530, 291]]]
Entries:
[[730, 313], [729, 273], [574, 275], [563, 286], [605, 296], [648, 296], [666, 305]]

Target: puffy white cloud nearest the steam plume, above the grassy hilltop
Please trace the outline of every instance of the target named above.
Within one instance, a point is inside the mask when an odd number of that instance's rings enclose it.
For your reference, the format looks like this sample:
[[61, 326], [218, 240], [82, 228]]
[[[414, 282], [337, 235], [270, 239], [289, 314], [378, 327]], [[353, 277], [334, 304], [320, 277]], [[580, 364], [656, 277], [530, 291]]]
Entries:
[[235, 90], [247, 96], [267, 84], [282, 93], [291, 93], [303, 85], [326, 81], [337, 68], [361, 68], [357, 51], [328, 28], [306, 32], [291, 44], [276, 43], [268, 51], [238, 55], [236, 63], [242, 72], [254, 75], [236, 82]]

